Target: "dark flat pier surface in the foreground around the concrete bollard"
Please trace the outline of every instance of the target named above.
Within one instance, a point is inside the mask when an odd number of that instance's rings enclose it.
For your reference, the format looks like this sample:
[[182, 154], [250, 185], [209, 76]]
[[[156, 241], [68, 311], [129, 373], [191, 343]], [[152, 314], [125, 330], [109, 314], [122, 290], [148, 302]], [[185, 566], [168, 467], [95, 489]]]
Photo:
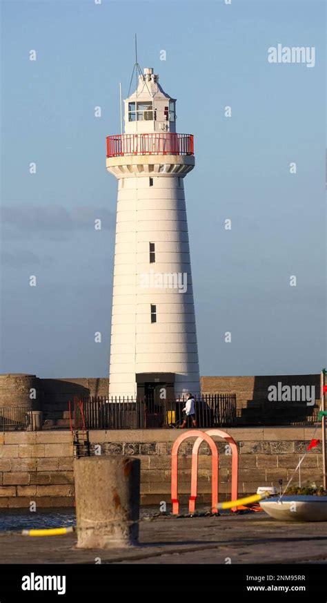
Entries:
[[[59, 527], [59, 526], [58, 526]], [[140, 521], [139, 546], [76, 549], [76, 533], [52, 537], [0, 534], [0, 563], [324, 563], [327, 522], [286, 523], [264, 513], [158, 517]], [[97, 560], [96, 560], [97, 559]]]

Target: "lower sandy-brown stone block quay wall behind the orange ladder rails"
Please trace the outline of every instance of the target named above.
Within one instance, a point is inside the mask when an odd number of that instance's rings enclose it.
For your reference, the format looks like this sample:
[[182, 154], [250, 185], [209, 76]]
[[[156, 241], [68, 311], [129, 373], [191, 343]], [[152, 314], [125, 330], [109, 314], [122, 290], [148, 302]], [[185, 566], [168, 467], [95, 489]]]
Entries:
[[[101, 454], [124, 454], [141, 460], [141, 504], [170, 504], [170, 453], [179, 430], [92, 430]], [[239, 446], [239, 495], [258, 486], [286, 485], [301, 454], [313, 437], [313, 428], [230, 428]], [[319, 434], [316, 434], [319, 437]], [[219, 498], [230, 498], [231, 457], [219, 441]], [[186, 502], [190, 493], [192, 440], [182, 444], [179, 457], [179, 492]], [[228, 450], [227, 450], [228, 452]], [[0, 434], [0, 507], [73, 506], [72, 461], [69, 431], [5, 432]], [[301, 486], [322, 484], [321, 444], [313, 448], [301, 467]], [[299, 475], [293, 481], [299, 485]], [[211, 457], [206, 443], [199, 454], [199, 502], [210, 502]], [[169, 507], [168, 507], [169, 508]]]

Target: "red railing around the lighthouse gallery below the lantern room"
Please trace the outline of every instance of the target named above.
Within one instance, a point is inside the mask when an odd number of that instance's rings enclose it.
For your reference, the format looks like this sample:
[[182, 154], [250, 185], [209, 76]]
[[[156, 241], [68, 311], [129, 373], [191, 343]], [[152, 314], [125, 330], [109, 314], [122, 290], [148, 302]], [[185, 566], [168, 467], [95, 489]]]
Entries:
[[116, 134], [107, 137], [107, 157], [194, 155], [192, 134]]

